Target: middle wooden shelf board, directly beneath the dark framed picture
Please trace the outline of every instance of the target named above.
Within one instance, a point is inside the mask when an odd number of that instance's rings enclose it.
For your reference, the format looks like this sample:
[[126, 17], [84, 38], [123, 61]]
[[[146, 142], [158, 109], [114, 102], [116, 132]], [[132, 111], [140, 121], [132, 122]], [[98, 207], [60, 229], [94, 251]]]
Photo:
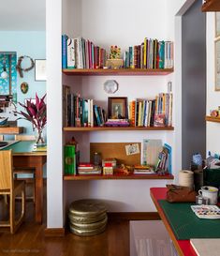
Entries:
[[95, 127], [95, 128], [64, 128], [65, 131], [96, 131], [96, 130], [174, 130], [173, 127], [145, 128], [145, 127]]

